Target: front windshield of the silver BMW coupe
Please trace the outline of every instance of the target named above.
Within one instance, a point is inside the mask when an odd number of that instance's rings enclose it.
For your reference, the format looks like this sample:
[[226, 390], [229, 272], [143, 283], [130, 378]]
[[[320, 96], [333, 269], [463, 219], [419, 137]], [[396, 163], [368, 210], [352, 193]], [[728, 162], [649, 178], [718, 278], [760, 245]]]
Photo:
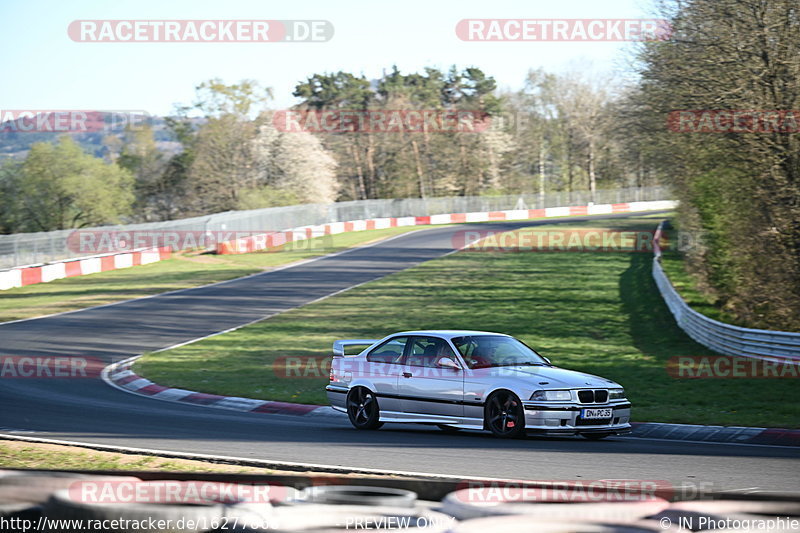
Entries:
[[469, 368], [497, 366], [545, 366], [547, 361], [513, 337], [469, 335], [453, 338], [453, 344]]

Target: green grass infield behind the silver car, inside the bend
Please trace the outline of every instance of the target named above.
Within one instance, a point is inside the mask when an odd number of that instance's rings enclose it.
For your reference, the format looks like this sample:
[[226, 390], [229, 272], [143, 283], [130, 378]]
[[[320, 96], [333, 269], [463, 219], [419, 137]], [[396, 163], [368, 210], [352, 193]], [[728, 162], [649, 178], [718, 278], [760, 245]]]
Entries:
[[[581, 227], [652, 230], [652, 218]], [[566, 225], [561, 226], [566, 227]], [[480, 329], [519, 337], [562, 367], [622, 383], [634, 419], [798, 427], [791, 379], [685, 379], [671, 357], [711, 355], [675, 324], [649, 253], [462, 252], [240, 330], [148, 354], [136, 371], [162, 385], [325, 404], [327, 373], [287, 379], [282, 356], [326, 358], [331, 342], [409, 329]]]

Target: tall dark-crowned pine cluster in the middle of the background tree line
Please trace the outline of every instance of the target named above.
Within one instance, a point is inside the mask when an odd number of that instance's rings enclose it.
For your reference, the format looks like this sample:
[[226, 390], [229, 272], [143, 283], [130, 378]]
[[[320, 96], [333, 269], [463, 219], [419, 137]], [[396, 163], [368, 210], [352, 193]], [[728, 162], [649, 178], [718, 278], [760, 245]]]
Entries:
[[[315, 74], [298, 84], [301, 110], [362, 113], [408, 111], [470, 112], [475, 126], [501, 110], [493, 78], [477, 68], [443, 73], [426, 68], [403, 73], [393, 67], [377, 80], [345, 72]], [[394, 113], [399, 112], [399, 113]], [[405, 115], [408, 116], [408, 115]], [[318, 135], [336, 154], [344, 198], [428, 197], [478, 194], [502, 188], [509, 139], [503, 132], [438, 131], [423, 122], [421, 131], [336, 132]]]

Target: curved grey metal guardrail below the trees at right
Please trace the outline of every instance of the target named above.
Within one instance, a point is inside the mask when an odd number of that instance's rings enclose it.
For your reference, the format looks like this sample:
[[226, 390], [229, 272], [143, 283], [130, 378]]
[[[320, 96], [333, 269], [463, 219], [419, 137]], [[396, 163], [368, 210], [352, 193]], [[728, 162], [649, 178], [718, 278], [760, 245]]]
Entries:
[[800, 363], [800, 333], [749, 329], [725, 324], [698, 313], [681, 298], [661, 268], [659, 240], [663, 222], [654, 237], [653, 279], [678, 326], [703, 346], [725, 355], [797, 361]]

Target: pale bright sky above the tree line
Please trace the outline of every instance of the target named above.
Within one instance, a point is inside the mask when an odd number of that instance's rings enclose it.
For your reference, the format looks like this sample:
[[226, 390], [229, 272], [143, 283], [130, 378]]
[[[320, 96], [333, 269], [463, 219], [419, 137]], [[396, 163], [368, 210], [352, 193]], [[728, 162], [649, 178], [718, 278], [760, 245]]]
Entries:
[[[0, 109], [142, 110], [169, 114], [190, 104], [199, 83], [255, 79], [271, 87], [273, 109], [297, 100], [314, 73], [368, 78], [397, 65], [475, 66], [501, 89], [522, 87], [529, 69], [629, 75], [631, 43], [465, 42], [465, 18], [648, 18], [648, 0], [0, 0]], [[74, 42], [74, 20], [328, 20], [324, 43]]]

